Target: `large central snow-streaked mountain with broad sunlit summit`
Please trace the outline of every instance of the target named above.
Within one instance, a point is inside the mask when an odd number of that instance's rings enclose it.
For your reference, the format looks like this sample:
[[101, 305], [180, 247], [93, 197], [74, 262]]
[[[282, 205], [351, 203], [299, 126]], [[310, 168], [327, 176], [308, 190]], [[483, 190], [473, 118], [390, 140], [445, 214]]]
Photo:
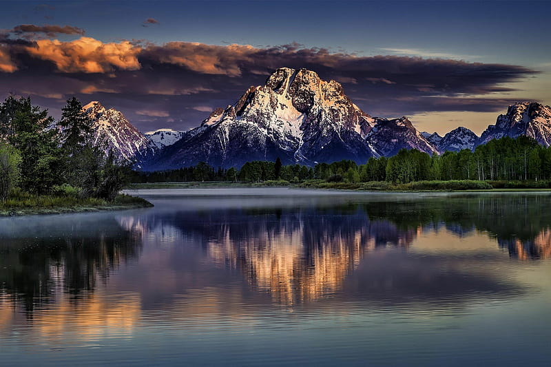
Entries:
[[264, 85], [226, 109], [216, 109], [199, 127], [160, 152], [148, 169], [172, 169], [200, 161], [241, 167], [250, 160], [284, 164], [379, 156], [366, 136], [374, 118], [348, 98], [336, 81], [306, 69], [275, 70]]

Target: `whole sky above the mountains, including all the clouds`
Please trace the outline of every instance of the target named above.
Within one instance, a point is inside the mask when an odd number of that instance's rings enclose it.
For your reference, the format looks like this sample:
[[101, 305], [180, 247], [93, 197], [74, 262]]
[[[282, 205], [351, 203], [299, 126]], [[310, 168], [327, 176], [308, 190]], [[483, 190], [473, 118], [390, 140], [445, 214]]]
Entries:
[[278, 67], [342, 83], [371, 116], [480, 134], [551, 104], [551, 1], [0, 1], [0, 98], [59, 118], [101, 101], [187, 130]]

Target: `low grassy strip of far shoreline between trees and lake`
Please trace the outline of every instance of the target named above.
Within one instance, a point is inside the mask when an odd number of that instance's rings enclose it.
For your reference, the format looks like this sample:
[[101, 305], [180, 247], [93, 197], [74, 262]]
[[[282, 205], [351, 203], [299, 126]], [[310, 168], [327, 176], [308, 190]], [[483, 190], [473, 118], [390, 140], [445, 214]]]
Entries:
[[[503, 186], [503, 185], [495, 185]], [[380, 192], [523, 192], [551, 191], [551, 188], [541, 187], [494, 187], [481, 181], [419, 181], [408, 184], [393, 184], [391, 182], [326, 182], [324, 180], [307, 180], [300, 183], [288, 181], [264, 182], [149, 182], [134, 183], [126, 189], [216, 189], [241, 187], [290, 187], [297, 189], [326, 189], [351, 191]]]

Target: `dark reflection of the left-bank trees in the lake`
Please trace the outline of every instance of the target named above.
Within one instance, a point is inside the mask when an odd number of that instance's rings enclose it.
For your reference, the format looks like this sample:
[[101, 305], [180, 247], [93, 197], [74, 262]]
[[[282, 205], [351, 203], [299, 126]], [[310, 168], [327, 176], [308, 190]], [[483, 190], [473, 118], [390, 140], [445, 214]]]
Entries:
[[29, 315], [61, 295], [72, 303], [90, 297], [141, 253], [140, 233], [100, 215], [9, 218], [0, 222], [0, 239], [0, 289]]

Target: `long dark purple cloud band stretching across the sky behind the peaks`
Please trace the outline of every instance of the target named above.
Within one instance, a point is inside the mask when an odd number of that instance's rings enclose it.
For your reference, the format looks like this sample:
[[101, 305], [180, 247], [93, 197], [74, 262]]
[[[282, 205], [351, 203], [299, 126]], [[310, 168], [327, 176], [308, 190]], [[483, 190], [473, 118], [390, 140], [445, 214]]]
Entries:
[[59, 101], [48, 101], [47, 96], [100, 100], [123, 110], [143, 130], [197, 126], [208, 108], [234, 103], [247, 87], [263, 84], [278, 67], [305, 67], [324, 80], [340, 81], [346, 94], [375, 116], [502, 110], [514, 102], [503, 98], [512, 90], [504, 84], [535, 73], [518, 65], [357, 56], [296, 43], [258, 48], [191, 42], [103, 43], [81, 37], [25, 44], [25, 40], [1, 41], [0, 37], [0, 93], [36, 94], [57, 109]]

